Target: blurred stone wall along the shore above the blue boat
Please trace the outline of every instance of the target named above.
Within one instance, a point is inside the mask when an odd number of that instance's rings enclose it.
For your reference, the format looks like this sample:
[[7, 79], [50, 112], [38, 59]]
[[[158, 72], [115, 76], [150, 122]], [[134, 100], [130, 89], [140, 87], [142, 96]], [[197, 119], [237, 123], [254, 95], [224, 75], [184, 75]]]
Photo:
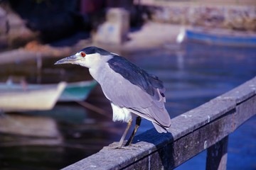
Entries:
[[256, 6], [146, 6], [154, 21], [256, 31]]

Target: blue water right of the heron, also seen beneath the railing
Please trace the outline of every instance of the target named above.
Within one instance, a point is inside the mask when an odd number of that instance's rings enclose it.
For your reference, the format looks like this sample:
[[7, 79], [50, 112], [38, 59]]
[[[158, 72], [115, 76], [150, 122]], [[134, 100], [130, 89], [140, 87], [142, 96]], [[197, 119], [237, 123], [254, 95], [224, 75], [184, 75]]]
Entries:
[[[166, 108], [172, 117], [200, 106], [256, 76], [256, 48], [189, 43], [178, 50], [167, 45], [160, 51], [134, 54], [132, 60], [152, 70], [164, 81]], [[145, 128], [141, 128], [140, 132], [149, 125], [144, 121]], [[256, 169], [255, 140], [254, 116], [230, 135], [227, 169]], [[206, 169], [206, 152], [177, 169]]]

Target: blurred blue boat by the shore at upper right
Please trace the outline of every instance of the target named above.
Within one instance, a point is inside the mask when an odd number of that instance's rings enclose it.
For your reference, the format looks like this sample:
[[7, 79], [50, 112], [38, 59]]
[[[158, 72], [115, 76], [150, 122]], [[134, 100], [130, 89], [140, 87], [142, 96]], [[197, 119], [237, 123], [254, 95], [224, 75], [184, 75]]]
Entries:
[[213, 45], [256, 46], [256, 33], [217, 28], [187, 29], [186, 39], [188, 41], [204, 42]]

